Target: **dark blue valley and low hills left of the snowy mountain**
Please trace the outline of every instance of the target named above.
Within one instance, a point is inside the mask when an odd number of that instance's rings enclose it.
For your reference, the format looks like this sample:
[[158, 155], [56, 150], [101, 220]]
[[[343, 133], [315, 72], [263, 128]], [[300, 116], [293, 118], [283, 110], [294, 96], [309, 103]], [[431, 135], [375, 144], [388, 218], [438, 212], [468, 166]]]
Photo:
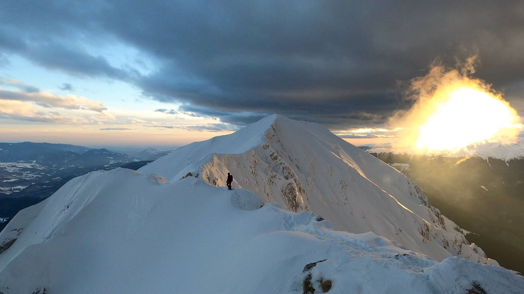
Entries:
[[146, 149], [135, 157], [69, 144], [0, 143], [0, 230], [19, 210], [46, 199], [74, 177], [116, 167], [136, 170], [167, 153]]

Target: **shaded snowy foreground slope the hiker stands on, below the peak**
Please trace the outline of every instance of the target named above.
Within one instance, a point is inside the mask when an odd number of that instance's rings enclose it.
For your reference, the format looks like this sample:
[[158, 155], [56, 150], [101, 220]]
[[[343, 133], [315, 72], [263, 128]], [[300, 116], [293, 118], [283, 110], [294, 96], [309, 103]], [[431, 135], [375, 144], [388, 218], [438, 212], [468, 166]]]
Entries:
[[261, 204], [249, 191], [194, 177], [87, 174], [0, 234], [0, 291], [524, 292], [522, 277], [502, 267], [458, 257], [437, 263], [374, 233], [333, 231], [311, 212]]

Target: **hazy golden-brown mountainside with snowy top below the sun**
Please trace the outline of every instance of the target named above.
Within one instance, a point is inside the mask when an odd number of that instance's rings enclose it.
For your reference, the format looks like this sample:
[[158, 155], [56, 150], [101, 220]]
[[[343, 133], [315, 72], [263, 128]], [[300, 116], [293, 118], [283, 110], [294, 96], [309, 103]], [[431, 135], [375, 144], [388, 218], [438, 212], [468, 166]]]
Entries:
[[432, 205], [502, 266], [524, 272], [524, 144], [485, 144], [475, 152], [418, 154], [391, 144], [359, 146], [412, 178]]

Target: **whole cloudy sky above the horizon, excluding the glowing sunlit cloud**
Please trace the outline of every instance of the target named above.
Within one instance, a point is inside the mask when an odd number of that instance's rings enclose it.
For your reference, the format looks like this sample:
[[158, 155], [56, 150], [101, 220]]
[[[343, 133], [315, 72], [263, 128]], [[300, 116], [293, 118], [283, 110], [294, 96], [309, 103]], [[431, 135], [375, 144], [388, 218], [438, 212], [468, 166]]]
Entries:
[[391, 140], [407, 81], [472, 54], [524, 110], [524, 2], [399, 3], [4, 0], [0, 141], [181, 145], [276, 112]]

